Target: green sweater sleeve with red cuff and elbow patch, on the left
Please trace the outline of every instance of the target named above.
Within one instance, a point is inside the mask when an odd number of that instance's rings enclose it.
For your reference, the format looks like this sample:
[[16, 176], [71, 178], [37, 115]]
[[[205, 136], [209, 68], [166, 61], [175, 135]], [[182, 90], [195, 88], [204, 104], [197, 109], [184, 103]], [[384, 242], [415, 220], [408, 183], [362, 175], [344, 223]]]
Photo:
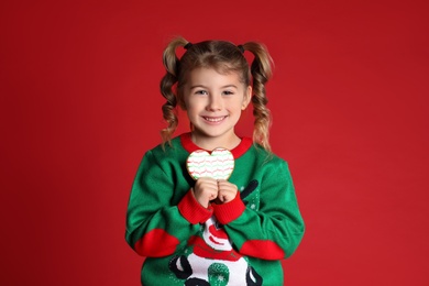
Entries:
[[148, 151], [135, 176], [127, 211], [125, 240], [142, 256], [173, 254], [212, 213], [193, 200], [190, 190], [173, 204], [175, 187], [174, 179]]

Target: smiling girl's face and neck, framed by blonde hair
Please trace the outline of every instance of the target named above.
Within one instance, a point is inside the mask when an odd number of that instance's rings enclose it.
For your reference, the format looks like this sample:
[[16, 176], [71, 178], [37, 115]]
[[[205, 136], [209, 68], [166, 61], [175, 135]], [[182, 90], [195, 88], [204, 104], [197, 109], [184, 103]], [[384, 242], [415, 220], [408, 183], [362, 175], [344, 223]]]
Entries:
[[239, 142], [234, 127], [251, 99], [252, 87], [237, 73], [196, 68], [184, 86], [184, 102], [194, 127], [193, 140], [204, 148], [232, 148]]

